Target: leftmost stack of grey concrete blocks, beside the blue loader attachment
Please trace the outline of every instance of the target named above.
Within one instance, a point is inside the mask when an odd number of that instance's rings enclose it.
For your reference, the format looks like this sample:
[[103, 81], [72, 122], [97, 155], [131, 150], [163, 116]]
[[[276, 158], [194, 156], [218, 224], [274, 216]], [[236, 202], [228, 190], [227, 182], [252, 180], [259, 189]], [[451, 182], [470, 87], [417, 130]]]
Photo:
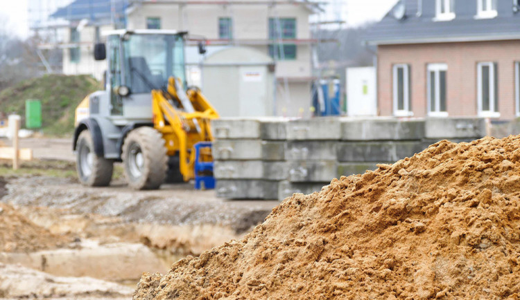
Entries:
[[288, 173], [286, 122], [281, 118], [227, 118], [212, 123], [218, 197], [278, 198], [279, 182]]

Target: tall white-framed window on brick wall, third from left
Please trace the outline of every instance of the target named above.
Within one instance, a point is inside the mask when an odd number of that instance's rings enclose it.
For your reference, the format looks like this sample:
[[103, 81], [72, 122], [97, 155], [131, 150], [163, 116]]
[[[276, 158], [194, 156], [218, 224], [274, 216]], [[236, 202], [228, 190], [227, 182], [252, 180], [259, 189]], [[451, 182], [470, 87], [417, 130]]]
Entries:
[[478, 115], [499, 116], [497, 65], [493, 62], [477, 64]]

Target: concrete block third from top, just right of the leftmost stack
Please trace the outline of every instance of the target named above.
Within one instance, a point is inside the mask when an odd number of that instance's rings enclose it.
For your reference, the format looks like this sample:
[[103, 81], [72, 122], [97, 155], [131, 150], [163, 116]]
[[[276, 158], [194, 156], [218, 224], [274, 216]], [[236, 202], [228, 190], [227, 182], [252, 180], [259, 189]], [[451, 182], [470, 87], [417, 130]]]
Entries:
[[289, 162], [290, 182], [327, 182], [336, 177], [336, 160], [293, 160]]

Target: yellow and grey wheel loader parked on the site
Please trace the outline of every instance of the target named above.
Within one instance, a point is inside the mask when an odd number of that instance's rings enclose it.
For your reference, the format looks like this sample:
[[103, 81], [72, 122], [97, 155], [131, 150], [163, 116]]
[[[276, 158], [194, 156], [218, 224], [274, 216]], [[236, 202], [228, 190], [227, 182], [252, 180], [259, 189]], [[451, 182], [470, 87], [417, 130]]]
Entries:
[[[80, 182], [109, 185], [114, 162], [123, 162], [133, 189], [191, 180], [196, 160], [212, 160], [210, 147], [194, 147], [213, 140], [210, 121], [218, 113], [198, 88], [187, 87], [187, 32], [112, 30], [105, 35], [106, 44], [94, 46], [94, 58], [107, 61], [105, 90], [88, 95], [76, 108], [73, 151]], [[202, 44], [199, 52], [205, 52]]]

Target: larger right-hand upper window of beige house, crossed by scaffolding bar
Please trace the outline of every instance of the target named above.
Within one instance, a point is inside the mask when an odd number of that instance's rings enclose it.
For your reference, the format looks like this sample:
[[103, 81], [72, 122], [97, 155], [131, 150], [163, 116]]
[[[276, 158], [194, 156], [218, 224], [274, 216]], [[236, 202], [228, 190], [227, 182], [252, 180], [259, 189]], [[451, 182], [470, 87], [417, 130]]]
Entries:
[[[269, 19], [269, 39], [296, 39], [296, 19], [295, 18], [270, 18]], [[277, 43], [270, 44], [269, 55], [274, 59], [296, 59], [296, 45]]]

